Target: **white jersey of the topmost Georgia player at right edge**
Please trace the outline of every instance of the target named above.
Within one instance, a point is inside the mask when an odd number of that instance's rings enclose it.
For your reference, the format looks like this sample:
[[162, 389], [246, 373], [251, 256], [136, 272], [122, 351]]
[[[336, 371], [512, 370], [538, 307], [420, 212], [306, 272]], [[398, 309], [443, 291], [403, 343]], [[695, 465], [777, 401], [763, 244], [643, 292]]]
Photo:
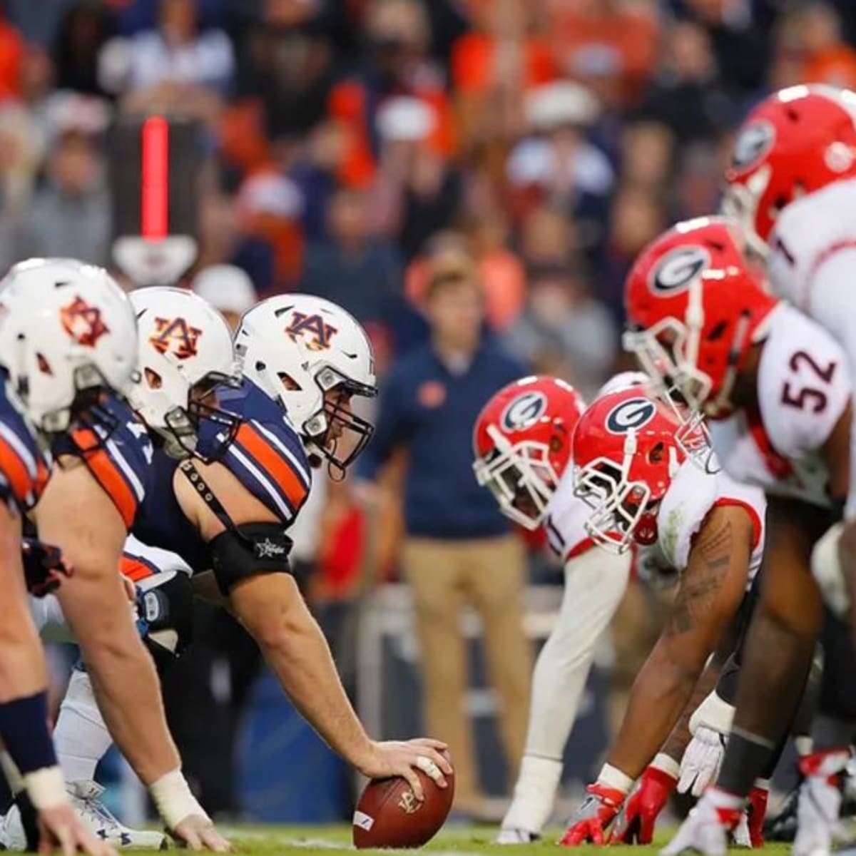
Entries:
[[[788, 205], [770, 235], [768, 271], [776, 294], [823, 325], [856, 377], [856, 179], [836, 181]], [[856, 431], [851, 432], [856, 459]], [[856, 514], [856, 467], [847, 516]]]

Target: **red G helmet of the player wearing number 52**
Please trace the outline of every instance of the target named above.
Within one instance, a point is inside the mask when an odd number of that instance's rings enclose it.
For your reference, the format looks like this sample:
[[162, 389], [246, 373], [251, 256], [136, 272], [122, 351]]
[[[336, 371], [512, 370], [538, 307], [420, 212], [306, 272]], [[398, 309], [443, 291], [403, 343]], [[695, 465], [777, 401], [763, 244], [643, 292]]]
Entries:
[[645, 247], [625, 284], [624, 348], [664, 395], [675, 387], [691, 410], [713, 418], [733, 410], [734, 379], [778, 303], [741, 237], [723, 217], [678, 223]]

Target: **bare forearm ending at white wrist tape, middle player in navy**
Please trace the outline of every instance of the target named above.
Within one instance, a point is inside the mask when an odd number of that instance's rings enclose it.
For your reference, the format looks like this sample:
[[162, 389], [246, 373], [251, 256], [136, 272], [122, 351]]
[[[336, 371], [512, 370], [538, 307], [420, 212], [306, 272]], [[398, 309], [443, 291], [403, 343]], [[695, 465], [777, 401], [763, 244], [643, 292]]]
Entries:
[[[63, 609], [80, 644], [98, 708], [116, 746], [146, 785], [181, 766], [169, 735], [158, 675], [132, 621], [118, 577], [109, 605], [104, 586], [73, 580]], [[113, 581], [111, 580], [111, 583]], [[72, 591], [74, 589], [74, 591]]]

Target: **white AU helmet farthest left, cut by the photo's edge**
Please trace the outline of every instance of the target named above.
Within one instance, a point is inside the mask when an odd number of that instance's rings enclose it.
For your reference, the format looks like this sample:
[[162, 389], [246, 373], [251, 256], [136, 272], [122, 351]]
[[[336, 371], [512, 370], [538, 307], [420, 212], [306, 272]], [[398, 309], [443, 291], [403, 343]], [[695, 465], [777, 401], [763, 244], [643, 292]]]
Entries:
[[3, 277], [0, 366], [39, 431], [66, 431], [99, 391], [124, 395], [136, 361], [134, 309], [104, 268], [27, 259]]

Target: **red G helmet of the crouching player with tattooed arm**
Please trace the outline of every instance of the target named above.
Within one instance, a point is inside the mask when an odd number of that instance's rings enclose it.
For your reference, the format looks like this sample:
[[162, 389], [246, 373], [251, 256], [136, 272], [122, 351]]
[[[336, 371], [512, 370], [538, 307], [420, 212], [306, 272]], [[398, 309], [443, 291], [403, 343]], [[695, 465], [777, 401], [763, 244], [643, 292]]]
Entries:
[[594, 513], [591, 538], [610, 552], [657, 541], [657, 510], [687, 455], [674, 407], [643, 386], [601, 395], [574, 430], [574, 493]]

